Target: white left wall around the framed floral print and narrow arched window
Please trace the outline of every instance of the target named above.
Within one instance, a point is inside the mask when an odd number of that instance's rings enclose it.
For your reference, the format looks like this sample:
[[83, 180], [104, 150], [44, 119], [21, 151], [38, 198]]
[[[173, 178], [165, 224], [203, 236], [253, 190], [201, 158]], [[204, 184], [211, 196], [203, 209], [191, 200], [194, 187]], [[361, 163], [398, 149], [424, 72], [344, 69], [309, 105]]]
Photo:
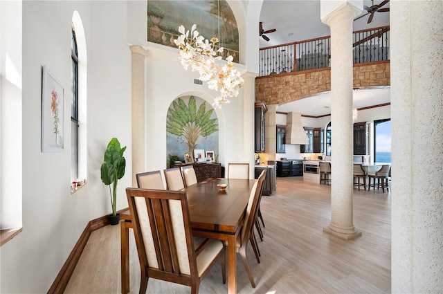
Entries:
[[[80, 12], [87, 39], [87, 185], [70, 193], [71, 19]], [[145, 11], [140, 13], [145, 14]], [[118, 21], [116, 21], [118, 19]], [[111, 212], [100, 180], [108, 141], [131, 143], [131, 59], [124, 1], [23, 2], [23, 232], [1, 246], [1, 293], [45, 293], [88, 221]], [[1, 36], [3, 39], [3, 35]], [[42, 66], [64, 87], [64, 152], [40, 151]], [[131, 148], [118, 187], [127, 207]]]

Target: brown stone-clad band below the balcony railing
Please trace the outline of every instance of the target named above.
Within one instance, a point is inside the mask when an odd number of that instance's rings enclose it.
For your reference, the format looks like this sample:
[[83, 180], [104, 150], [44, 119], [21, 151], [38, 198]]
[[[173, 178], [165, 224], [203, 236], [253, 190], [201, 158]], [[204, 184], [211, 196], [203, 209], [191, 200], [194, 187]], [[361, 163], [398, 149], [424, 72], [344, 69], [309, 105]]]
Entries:
[[[390, 62], [354, 64], [354, 87], [389, 86]], [[331, 90], [331, 68], [255, 78], [255, 102], [284, 104]]]

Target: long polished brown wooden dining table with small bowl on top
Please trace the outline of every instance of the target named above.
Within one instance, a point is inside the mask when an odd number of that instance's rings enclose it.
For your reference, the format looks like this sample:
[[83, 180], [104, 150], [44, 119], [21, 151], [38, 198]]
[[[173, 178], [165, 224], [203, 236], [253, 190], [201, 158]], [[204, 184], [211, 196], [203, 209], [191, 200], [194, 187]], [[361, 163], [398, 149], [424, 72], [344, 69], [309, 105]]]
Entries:
[[[226, 241], [228, 248], [228, 293], [237, 293], [235, 240], [242, 230], [249, 195], [256, 180], [210, 178], [184, 190], [188, 197], [192, 235]], [[217, 184], [227, 184], [220, 191]], [[122, 293], [129, 293], [129, 228], [131, 216], [120, 222]]]

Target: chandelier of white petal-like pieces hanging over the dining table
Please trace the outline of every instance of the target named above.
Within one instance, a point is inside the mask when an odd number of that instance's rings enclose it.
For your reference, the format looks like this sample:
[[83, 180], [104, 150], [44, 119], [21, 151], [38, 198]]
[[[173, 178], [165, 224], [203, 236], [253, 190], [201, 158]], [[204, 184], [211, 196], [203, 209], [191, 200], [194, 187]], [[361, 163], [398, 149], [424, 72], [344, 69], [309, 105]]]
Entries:
[[[219, 42], [216, 37], [210, 40], [199, 35], [194, 24], [191, 31], [186, 31], [185, 27], [179, 26], [181, 35], [174, 39], [174, 43], [179, 46], [181, 65], [188, 70], [198, 71], [199, 80], [208, 82], [208, 88], [219, 91], [220, 95], [214, 98], [213, 107], [221, 108], [221, 104], [229, 103], [230, 97], [237, 97], [238, 90], [243, 85], [243, 78], [237, 69], [234, 68], [233, 57], [226, 57], [226, 64], [217, 64], [215, 60], [222, 60], [221, 53], [224, 48], [220, 47], [215, 51], [215, 44]], [[218, 53], [218, 55], [217, 55]]]

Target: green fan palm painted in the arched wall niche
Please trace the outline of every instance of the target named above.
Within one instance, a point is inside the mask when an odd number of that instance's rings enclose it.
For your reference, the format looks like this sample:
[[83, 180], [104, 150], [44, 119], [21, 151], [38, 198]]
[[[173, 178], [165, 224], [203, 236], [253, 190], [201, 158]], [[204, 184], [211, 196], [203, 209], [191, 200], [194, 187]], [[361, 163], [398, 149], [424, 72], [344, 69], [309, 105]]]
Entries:
[[210, 117], [214, 109], [206, 111], [206, 103], [202, 103], [197, 110], [195, 97], [189, 98], [188, 105], [181, 98], [172, 102], [167, 116], [166, 131], [168, 133], [183, 136], [191, 154], [197, 147], [197, 139], [200, 136], [207, 137], [217, 131], [217, 119]]

